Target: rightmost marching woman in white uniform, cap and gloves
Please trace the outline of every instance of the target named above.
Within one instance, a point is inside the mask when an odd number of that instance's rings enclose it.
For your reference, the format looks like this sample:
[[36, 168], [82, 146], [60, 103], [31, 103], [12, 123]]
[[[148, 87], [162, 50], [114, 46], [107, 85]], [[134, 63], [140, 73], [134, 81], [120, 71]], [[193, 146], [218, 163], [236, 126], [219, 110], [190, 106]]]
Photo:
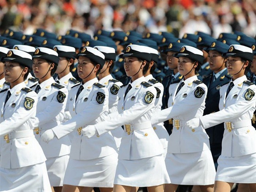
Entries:
[[218, 159], [215, 192], [230, 191], [234, 183], [248, 183], [256, 191], [256, 131], [251, 119], [255, 111], [256, 86], [246, 79], [253, 60], [252, 49], [230, 45], [227, 53], [230, 83], [219, 91], [219, 112], [187, 122], [190, 129], [207, 129], [224, 122], [222, 152]]

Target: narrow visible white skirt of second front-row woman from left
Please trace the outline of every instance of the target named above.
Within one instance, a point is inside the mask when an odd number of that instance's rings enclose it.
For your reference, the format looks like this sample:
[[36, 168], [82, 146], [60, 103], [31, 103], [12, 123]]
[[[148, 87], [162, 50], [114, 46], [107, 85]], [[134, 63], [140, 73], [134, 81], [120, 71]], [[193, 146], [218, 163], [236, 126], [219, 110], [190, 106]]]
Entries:
[[47, 158], [47, 173], [52, 187], [63, 186], [63, 179], [68, 165], [69, 155]]

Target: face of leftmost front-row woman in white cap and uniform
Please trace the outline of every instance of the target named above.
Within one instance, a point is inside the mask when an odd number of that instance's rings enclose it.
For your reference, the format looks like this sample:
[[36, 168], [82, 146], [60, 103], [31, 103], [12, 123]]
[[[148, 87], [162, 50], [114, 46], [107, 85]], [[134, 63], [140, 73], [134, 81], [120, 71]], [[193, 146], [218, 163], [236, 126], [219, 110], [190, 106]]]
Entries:
[[[23, 68], [20, 67], [19, 63], [13, 61], [4, 62], [4, 78], [7, 82], [12, 83], [21, 77]], [[23, 78], [23, 76], [22, 76]]]

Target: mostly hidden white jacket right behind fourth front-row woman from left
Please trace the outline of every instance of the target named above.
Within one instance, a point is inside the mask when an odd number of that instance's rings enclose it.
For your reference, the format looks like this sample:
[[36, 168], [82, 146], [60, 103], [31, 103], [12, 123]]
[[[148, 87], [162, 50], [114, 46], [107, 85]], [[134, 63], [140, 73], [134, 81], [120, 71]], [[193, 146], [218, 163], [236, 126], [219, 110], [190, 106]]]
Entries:
[[[155, 113], [161, 111], [162, 107], [162, 97], [163, 97], [163, 84], [159, 83], [156, 79], [153, 78], [153, 75], [148, 75], [145, 77], [148, 83], [150, 83], [157, 90], [157, 96], [155, 98]], [[163, 126], [163, 123], [158, 123], [153, 126], [155, 133], [157, 133], [158, 138], [160, 139], [163, 148], [167, 148], [169, 133]]]

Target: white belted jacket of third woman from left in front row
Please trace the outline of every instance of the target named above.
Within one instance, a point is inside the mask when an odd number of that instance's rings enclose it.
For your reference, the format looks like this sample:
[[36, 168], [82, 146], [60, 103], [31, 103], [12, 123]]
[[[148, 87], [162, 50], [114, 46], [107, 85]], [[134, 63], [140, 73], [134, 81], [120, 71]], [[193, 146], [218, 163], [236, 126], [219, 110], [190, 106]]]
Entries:
[[[84, 89], [76, 98], [81, 85]], [[97, 78], [91, 79], [84, 84], [81, 83], [70, 90], [68, 100], [69, 112], [72, 118], [52, 129], [58, 139], [73, 130], [76, 131], [72, 139], [70, 158], [88, 160], [116, 153], [116, 143], [109, 132], [101, 136], [94, 135], [88, 139], [83, 136], [80, 128], [106, 120], [108, 117], [108, 97], [108, 90], [98, 83]]]

